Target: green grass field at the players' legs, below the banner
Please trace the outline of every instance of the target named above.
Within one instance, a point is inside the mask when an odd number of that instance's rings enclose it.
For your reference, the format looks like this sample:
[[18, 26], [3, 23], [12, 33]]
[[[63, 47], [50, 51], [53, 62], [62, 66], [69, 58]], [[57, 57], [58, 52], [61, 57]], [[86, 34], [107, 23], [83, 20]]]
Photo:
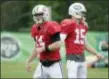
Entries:
[[[32, 64], [32, 72], [27, 72], [25, 63], [2, 62], [1, 78], [32, 78], [36, 64]], [[66, 69], [64, 76], [66, 77]], [[88, 68], [88, 78], [108, 78], [108, 68]]]

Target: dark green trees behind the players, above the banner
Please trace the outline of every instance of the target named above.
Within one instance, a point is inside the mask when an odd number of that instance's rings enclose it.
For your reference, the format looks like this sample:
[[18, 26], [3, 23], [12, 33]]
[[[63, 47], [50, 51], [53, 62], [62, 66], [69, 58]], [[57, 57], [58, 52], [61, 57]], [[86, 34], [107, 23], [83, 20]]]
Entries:
[[90, 31], [108, 31], [108, 0], [27, 0], [1, 2], [1, 31], [29, 31], [32, 9], [37, 4], [52, 8], [52, 20], [58, 21], [68, 17], [68, 7], [73, 2], [81, 2], [87, 9], [87, 22]]

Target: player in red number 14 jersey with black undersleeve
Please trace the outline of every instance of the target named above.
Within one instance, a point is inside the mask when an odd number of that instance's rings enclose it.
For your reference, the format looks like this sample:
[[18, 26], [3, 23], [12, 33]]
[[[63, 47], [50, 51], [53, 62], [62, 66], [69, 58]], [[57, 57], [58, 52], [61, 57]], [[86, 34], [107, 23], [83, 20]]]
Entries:
[[32, 60], [39, 55], [40, 63], [33, 78], [62, 78], [60, 25], [48, 21], [48, 8], [45, 5], [36, 5], [32, 15], [35, 24], [31, 28], [31, 35], [35, 40], [35, 48], [28, 59], [27, 71], [31, 69]]

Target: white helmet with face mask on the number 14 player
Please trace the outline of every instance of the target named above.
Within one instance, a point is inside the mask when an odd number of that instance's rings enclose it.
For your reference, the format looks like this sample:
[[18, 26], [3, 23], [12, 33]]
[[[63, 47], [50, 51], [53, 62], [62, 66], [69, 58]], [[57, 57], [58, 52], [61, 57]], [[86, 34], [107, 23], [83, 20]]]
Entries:
[[48, 9], [44, 5], [37, 5], [32, 10], [33, 20], [36, 24], [41, 24], [48, 18]]

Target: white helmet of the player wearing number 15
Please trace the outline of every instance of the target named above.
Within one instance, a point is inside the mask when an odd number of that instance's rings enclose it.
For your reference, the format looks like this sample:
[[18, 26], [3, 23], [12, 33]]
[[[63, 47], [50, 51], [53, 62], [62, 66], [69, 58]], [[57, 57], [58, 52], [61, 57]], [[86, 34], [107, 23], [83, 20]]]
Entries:
[[70, 5], [68, 14], [76, 19], [82, 19], [85, 18], [86, 8], [81, 3], [74, 3]]

